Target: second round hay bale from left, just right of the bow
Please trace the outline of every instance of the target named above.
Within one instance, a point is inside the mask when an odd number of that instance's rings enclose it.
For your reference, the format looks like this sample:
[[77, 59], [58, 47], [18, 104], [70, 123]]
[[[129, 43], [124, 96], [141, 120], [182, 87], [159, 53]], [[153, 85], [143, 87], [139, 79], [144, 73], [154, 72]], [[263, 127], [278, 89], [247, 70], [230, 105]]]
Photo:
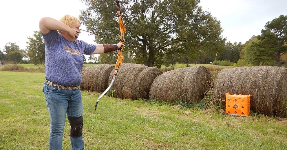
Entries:
[[[114, 84], [111, 86], [110, 92], [113, 92], [113, 96], [115, 98], [127, 98], [136, 100], [137, 97], [133, 96], [133, 94], [136, 90], [136, 79], [140, 72], [144, 69], [146, 69], [147, 66], [140, 65], [140, 64], [134, 64], [134, 63], [122, 63], [120, 65], [120, 68], [118, 70], [116, 79], [114, 81]], [[109, 76], [109, 83], [111, 83], [111, 80], [113, 78], [113, 72], [110, 73]]]

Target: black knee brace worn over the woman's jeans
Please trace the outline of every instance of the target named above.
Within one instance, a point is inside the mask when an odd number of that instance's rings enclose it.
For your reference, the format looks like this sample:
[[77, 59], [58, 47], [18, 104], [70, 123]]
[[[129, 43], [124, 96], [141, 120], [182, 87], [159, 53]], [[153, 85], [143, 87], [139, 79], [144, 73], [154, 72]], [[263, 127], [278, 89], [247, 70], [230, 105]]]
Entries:
[[71, 130], [70, 136], [72, 138], [78, 138], [83, 135], [83, 116], [80, 117], [68, 117]]

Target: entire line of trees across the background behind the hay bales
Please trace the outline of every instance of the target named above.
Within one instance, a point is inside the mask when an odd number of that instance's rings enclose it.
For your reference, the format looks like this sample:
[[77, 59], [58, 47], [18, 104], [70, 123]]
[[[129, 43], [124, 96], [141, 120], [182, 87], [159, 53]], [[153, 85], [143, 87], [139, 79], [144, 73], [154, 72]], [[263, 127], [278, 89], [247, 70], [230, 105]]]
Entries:
[[[81, 11], [79, 18], [88, 30], [110, 37], [119, 37], [117, 7], [113, 0], [98, 0]], [[261, 35], [250, 40], [226, 42], [222, 37], [220, 21], [198, 5], [199, 0], [138, 1], [121, 3], [126, 27], [124, 62], [161, 67], [185, 63], [214, 65], [286, 65], [287, 16], [280, 15], [265, 25]], [[97, 43], [115, 43], [95, 36]], [[28, 58], [31, 63], [45, 62], [44, 41], [39, 31], [28, 37], [26, 50], [13, 43], [0, 50], [0, 60], [20, 62]], [[21, 59], [20, 59], [21, 58]], [[85, 59], [85, 57], [84, 57]], [[89, 63], [113, 64], [116, 52], [89, 57]], [[84, 60], [85, 62], [86, 60]]]

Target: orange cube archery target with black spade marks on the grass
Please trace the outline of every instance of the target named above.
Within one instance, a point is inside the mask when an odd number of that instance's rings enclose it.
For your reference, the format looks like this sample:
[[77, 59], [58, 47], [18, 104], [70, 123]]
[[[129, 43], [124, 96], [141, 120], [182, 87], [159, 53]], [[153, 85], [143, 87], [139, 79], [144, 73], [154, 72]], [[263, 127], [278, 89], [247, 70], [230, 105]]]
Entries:
[[226, 93], [226, 113], [247, 116], [250, 113], [250, 94], [241, 95]]

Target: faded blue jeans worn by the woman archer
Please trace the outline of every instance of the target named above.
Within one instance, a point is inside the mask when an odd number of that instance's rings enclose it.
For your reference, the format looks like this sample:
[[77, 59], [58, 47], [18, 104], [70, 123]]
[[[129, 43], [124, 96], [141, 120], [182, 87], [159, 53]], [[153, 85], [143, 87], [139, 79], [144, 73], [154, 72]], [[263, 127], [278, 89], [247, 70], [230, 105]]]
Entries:
[[[63, 133], [67, 117], [80, 117], [83, 115], [83, 101], [80, 88], [73, 90], [59, 89], [43, 84], [46, 105], [50, 115], [49, 149], [63, 150]], [[83, 136], [72, 138], [71, 150], [84, 149]]]

